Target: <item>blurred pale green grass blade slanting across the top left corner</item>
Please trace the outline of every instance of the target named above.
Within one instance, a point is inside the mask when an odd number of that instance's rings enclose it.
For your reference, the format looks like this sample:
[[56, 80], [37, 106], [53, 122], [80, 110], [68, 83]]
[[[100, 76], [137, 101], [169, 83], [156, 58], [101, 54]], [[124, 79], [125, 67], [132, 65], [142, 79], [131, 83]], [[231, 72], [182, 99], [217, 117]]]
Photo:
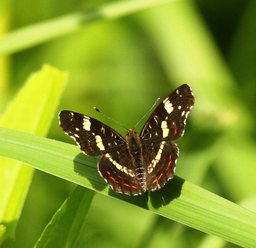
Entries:
[[50, 21], [26, 26], [12, 31], [0, 39], [0, 56], [3, 54], [12, 54], [56, 37], [75, 32], [91, 21], [117, 18], [171, 1], [173, 0], [119, 1], [89, 11], [74, 13]]

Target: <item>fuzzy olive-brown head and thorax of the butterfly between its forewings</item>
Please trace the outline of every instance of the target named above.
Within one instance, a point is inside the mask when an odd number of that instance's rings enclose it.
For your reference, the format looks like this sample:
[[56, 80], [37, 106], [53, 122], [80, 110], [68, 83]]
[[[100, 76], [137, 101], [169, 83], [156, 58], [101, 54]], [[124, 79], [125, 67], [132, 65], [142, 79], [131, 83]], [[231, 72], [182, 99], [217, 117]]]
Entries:
[[137, 131], [129, 129], [126, 133], [127, 148], [132, 156], [140, 155], [142, 151], [142, 145], [140, 142], [140, 136]]

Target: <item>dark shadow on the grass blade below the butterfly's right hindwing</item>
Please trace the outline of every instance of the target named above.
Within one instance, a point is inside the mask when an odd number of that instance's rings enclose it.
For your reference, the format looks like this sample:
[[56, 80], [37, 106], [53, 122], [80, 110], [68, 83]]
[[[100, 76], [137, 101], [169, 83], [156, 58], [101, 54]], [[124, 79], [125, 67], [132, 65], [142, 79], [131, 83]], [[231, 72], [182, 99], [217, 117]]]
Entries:
[[168, 205], [174, 199], [179, 198], [184, 182], [184, 179], [174, 176], [173, 179], [165, 183], [162, 189], [150, 191], [149, 196], [151, 205], [157, 209]]

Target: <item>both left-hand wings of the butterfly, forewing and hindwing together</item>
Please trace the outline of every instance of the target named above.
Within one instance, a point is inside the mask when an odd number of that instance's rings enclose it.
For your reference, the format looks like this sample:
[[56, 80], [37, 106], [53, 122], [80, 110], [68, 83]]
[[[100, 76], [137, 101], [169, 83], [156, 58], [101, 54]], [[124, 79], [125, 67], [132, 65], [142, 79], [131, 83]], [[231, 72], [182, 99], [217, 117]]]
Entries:
[[115, 192], [137, 195], [146, 190], [135, 173], [142, 160], [132, 160], [122, 135], [96, 119], [68, 110], [59, 113], [59, 122], [86, 155], [103, 154], [98, 170]]

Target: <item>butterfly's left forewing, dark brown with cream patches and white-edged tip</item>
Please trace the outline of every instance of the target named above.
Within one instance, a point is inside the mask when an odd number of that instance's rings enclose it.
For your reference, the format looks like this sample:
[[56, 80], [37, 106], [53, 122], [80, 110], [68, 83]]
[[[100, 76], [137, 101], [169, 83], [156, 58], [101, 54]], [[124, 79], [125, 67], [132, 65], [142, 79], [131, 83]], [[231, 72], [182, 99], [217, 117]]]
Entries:
[[60, 111], [59, 125], [88, 156], [98, 156], [126, 147], [121, 134], [102, 122], [80, 113]]

